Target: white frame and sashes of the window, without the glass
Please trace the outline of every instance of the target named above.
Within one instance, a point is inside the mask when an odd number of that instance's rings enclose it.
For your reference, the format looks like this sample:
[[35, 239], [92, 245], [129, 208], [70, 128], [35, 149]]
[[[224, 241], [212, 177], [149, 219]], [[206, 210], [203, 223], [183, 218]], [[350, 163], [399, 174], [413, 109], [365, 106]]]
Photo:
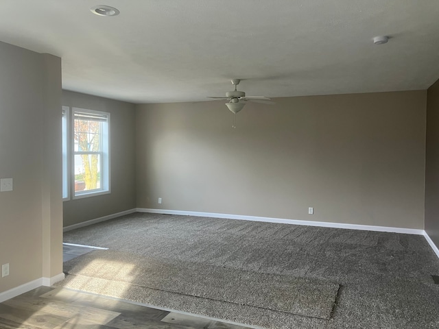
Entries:
[[[84, 197], [95, 197], [97, 195], [105, 195], [111, 193], [110, 189], [110, 113], [88, 110], [84, 108], [74, 108], [63, 106], [63, 112], [67, 114], [67, 164], [63, 162], [63, 192], [64, 188], [67, 188], [68, 195], [63, 198], [64, 201], [69, 199], [82, 199]], [[102, 127], [102, 152], [100, 157], [100, 187], [91, 191], [75, 191], [75, 154], [82, 154], [80, 151], [75, 151], [75, 138], [74, 138], [74, 123], [75, 113], [91, 114], [91, 116], [106, 117], [104, 127]], [[91, 154], [93, 152], [85, 152]], [[64, 160], [64, 157], [63, 157]], [[67, 175], [64, 176], [64, 170]]]

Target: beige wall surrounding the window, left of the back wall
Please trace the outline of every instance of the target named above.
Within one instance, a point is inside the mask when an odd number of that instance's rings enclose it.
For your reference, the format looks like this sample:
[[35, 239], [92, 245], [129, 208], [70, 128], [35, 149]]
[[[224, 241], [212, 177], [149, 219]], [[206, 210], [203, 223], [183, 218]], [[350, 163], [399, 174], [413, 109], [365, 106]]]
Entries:
[[64, 202], [64, 227], [135, 208], [134, 104], [63, 90], [62, 105], [111, 115], [111, 193]]

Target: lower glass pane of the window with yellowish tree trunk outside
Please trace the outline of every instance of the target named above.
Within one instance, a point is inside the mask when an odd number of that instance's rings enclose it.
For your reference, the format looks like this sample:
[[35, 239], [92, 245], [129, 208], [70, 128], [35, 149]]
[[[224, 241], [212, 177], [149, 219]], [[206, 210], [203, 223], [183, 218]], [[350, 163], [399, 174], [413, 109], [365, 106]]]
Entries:
[[101, 154], [75, 154], [75, 193], [101, 188]]

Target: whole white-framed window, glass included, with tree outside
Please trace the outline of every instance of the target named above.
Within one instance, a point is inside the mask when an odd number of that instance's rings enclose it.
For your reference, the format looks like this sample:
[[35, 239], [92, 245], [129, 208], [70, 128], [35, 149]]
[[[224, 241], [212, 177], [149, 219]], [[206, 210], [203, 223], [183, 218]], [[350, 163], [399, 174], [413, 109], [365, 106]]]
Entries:
[[64, 199], [69, 191], [73, 199], [110, 193], [110, 113], [71, 108], [69, 117], [68, 112], [63, 108], [63, 122], [64, 117], [73, 121], [71, 133], [63, 130], [69, 141], [65, 157], [63, 148]]

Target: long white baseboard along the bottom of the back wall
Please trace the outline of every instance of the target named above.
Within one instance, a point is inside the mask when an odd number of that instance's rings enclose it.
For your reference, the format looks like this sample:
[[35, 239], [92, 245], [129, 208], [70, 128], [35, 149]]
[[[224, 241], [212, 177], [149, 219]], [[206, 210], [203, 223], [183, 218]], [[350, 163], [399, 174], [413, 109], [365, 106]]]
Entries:
[[272, 217], [218, 214], [215, 212], [196, 212], [196, 211], [165, 210], [165, 209], [150, 209], [150, 208], [137, 208], [137, 211], [138, 212], [151, 212], [154, 214], [166, 214], [166, 215], [187, 215], [187, 216], [197, 216], [197, 217], [241, 219], [244, 221], [265, 221], [268, 223], [283, 223], [283, 224], [294, 224], [294, 225], [304, 225], [304, 226], [320, 226], [322, 228], [346, 228], [348, 230], [393, 232], [393, 233], [417, 234], [417, 235], [424, 234], [424, 230], [416, 230], [414, 228], [391, 228], [388, 226], [370, 226], [370, 225], [359, 225], [359, 224], [330, 223], [330, 222], [326, 222], [326, 221], [300, 221], [297, 219], [282, 219], [282, 218], [272, 218]]

